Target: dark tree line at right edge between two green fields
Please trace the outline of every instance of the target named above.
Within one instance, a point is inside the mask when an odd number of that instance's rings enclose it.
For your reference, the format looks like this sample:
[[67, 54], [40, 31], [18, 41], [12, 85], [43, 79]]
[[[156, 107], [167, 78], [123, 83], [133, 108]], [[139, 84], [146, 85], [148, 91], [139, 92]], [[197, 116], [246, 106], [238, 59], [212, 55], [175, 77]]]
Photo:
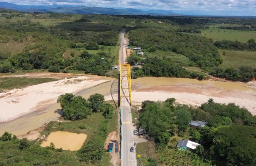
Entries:
[[240, 41], [223, 40], [223, 41], [215, 41], [213, 44], [220, 49], [256, 51], [256, 43], [255, 43], [255, 40], [253, 39], [248, 40], [247, 43], [242, 43]]

